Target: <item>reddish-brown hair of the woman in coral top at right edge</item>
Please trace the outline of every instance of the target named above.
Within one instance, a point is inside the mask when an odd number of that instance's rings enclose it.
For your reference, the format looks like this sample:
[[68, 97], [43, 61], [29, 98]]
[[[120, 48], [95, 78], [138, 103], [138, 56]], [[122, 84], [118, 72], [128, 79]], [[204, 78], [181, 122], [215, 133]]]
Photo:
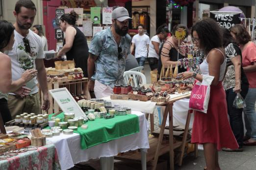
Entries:
[[242, 24], [235, 24], [230, 28], [230, 31], [235, 35], [235, 41], [238, 44], [244, 45], [252, 40], [250, 34]]

